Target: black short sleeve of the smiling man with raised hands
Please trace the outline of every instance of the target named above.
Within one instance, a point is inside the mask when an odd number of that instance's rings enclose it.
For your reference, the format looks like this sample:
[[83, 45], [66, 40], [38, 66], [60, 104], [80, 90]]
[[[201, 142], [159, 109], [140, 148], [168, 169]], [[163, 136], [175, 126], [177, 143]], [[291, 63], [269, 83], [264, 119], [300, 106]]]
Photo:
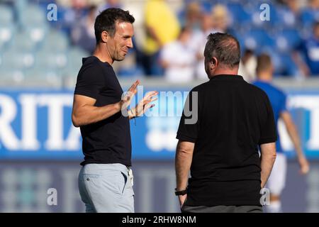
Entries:
[[105, 84], [103, 72], [98, 65], [89, 65], [80, 70], [74, 94], [89, 96], [97, 99]]

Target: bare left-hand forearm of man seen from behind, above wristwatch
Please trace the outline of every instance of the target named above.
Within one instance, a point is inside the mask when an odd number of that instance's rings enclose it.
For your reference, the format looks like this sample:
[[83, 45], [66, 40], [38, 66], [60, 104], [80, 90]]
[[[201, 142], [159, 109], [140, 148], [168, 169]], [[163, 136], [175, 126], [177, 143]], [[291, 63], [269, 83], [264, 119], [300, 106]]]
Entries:
[[189, 170], [191, 168], [191, 160], [193, 152], [184, 150], [181, 145], [177, 145], [177, 153], [175, 157], [175, 172], [177, 179], [177, 190], [184, 190], [187, 187], [189, 179]]

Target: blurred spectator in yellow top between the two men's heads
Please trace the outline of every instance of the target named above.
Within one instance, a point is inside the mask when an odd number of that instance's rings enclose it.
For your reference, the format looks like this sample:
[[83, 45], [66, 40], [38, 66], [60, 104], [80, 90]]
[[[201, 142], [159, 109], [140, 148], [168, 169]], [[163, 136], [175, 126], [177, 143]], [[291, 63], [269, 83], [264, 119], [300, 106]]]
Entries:
[[179, 21], [165, 0], [148, 0], [145, 6], [146, 40], [142, 67], [146, 75], [160, 75], [159, 51], [179, 35]]

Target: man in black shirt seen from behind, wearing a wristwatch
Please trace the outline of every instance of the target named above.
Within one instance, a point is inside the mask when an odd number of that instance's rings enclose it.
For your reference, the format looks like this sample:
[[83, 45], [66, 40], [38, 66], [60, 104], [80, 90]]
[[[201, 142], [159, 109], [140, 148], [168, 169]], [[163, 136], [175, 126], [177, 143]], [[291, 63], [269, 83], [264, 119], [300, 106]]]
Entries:
[[210, 80], [189, 93], [177, 132], [181, 211], [262, 212], [259, 193], [276, 158], [272, 106], [237, 75], [240, 45], [232, 35], [208, 35], [204, 56]]

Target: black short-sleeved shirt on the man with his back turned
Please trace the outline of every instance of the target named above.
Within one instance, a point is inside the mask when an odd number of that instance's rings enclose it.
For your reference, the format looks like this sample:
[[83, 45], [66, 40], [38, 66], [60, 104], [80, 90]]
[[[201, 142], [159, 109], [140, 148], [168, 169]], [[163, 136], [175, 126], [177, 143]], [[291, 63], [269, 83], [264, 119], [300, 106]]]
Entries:
[[[198, 120], [185, 123], [194, 119], [196, 94]], [[192, 89], [186, 103], [177, 139], [195, 147], [185, 204], [260, 206], [258, 145], [276, 141], [267, 94], [241, 76], [217, 75]]]

